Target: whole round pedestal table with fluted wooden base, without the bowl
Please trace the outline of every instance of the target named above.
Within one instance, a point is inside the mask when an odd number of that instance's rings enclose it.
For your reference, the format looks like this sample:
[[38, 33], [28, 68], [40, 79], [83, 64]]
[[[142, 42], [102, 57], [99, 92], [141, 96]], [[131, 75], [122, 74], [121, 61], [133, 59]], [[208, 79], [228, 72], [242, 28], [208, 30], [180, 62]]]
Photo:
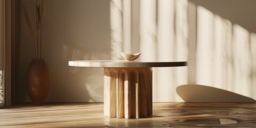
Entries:
[[104, 115], [148, 117], [152, 109], [152, 68], [187, 66], [186, 61], [76, 60], [69, 66], [104, 68]]

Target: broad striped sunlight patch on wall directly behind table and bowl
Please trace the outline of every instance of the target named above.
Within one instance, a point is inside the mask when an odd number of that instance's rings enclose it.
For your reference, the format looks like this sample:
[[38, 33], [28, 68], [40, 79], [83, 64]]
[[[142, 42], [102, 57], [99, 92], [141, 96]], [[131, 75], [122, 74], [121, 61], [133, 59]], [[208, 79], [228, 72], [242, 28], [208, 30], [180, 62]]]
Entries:
[[[111, 59], [136, 46], [138, 60], [187, 61], [187, 11], [188, 1], [111, 1]], [[131, 42], [137, 37], [138, 44]], [[153, 101], [182, 101], [175, 89], [187, 82], [187, 67], [154, 68]]]

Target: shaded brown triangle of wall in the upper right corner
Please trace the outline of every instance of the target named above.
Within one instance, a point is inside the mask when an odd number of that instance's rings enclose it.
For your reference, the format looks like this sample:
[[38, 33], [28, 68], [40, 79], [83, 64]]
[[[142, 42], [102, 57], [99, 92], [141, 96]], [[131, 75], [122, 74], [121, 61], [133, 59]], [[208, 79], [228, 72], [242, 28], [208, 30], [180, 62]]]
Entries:
[[254, 0], [188, 0], [196, 6], [203, 6], [205, 9], [219, 15], [223, 19], [238, 24], [246, 30], [256, 33], [256, 11]]

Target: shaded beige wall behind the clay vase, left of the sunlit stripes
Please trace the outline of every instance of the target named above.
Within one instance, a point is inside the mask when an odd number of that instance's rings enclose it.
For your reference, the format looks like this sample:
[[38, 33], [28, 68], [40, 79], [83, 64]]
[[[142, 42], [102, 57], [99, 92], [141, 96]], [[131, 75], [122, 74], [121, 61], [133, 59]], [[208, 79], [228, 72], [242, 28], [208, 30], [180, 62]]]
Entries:
[[[21, 2], [34, 14], [34, 0]], [[110, 59], [109, 10], [109, 1], [45, 1], [42, 57], [51, 72], [46, 101], [89, 101], [89, 93], [94, 101], [103, 98], [103, 69], [69, 67], [68, 60]], [[30, 101], [26, 69], [35, 55], [23, 15], [20, 27], [16, 101]]]

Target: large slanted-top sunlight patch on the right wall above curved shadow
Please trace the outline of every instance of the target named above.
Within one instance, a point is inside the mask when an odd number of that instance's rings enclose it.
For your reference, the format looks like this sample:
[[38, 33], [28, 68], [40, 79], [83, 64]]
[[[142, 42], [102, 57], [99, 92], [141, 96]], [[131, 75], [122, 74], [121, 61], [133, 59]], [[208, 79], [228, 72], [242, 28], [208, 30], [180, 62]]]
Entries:
[[243, 27], [198, 6], [196, 83], [255, 99], [253, 41]]

